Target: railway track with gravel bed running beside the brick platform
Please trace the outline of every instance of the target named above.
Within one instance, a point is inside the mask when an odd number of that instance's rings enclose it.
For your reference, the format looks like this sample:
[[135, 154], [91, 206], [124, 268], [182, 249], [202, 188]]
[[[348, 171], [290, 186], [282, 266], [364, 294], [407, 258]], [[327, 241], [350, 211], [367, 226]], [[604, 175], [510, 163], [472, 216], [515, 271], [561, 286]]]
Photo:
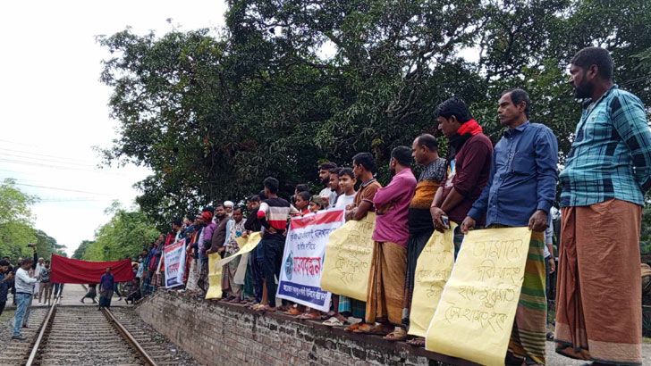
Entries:
[[[41, 310], [41, 309], [39, 309]], [[131, 316], [95, 307], [53, 304], [33, 313], [24, 342], [0, 355], [4, 365], [170, 365], [165, 348], [131, 322]], [[40, 327], [38, 325], [40, 324]], [[34, 331], [31, 329], [38, 329]], [[4, 357], [3, 357], [4, 356]]]

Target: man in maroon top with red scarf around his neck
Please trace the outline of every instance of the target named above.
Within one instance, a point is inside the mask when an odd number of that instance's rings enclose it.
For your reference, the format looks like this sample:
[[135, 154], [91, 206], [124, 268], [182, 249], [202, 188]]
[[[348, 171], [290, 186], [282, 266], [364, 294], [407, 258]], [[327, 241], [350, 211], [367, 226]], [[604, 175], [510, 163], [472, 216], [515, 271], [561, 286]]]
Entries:
[[[444, 217], [461, 225], [472, 204], [481, 195], [491, 170], [493, 144], [484, 135], [478, 122], [460, 98], [452, 97], [439, 104], [435, 110], [438, 129], [450, 140], [447, 158], [447, 176], [436, 191], [429, 212], [434, 228], [444, 232], [448, 224]], [[485, 223], [484, 217], [478, 225]], [[463, 234], [461, 228], [454, 230], [454, 254], [459, 252]]]

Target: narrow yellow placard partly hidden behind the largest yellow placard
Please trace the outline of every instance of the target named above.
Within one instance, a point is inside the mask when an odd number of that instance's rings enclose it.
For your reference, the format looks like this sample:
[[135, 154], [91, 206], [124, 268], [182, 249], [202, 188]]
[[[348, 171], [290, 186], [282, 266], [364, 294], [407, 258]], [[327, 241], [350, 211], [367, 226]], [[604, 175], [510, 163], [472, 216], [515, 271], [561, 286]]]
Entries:
[[444, 233], [434, 231], [429, 237], [416, 262], [414, 273], [414, 292], [411, 299], [410, 329], [408, 334], [425, 337], [427, 327], [432, 321], [443, 288], [454, 265], [454, 228], [457, 224], [450, 222], [451, 228]]

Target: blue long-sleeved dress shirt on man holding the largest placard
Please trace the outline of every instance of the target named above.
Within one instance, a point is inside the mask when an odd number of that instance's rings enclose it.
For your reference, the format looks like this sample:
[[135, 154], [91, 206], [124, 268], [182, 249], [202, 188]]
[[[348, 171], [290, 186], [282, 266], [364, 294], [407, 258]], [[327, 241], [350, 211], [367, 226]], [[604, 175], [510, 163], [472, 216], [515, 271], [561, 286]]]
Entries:
[[495, 145], [488, 183], [468, 215], [486, 214], [486, 226], [527, 226], [536, 210], [549, 210], [556, 196], [558, 142], [539, 123], [508, 129]]

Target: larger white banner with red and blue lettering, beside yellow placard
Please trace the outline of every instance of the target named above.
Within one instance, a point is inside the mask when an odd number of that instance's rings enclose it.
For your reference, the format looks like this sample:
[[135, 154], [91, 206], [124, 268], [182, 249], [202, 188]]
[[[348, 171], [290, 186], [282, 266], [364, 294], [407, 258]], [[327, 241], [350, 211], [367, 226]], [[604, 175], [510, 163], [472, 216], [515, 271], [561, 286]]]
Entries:
[[330, 233], [343, 225], [344, 210], [292, 218], [287, 232], [277, 297], [310, 308], [330, 310], [331, 293], [321, 288], [325, 245]]

